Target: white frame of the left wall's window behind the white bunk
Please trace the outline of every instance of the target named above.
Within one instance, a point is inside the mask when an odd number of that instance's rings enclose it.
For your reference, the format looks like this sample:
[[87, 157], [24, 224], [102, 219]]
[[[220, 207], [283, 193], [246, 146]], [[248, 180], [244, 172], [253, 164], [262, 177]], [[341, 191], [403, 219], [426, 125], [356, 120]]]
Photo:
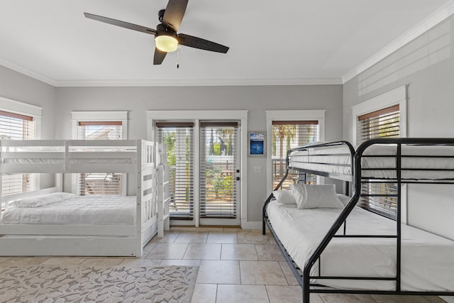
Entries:
[[[33, 122], [35, 123], [35, 140], [41, 139], [41, 118], [43, 116], [42, 107], [0, 97], [0, 111], [8, 111], [13, 114], [33, 117]], [[34, 188], [35, 190], [41, 188], [41, 178], [39, 174], [35, 177]]]

